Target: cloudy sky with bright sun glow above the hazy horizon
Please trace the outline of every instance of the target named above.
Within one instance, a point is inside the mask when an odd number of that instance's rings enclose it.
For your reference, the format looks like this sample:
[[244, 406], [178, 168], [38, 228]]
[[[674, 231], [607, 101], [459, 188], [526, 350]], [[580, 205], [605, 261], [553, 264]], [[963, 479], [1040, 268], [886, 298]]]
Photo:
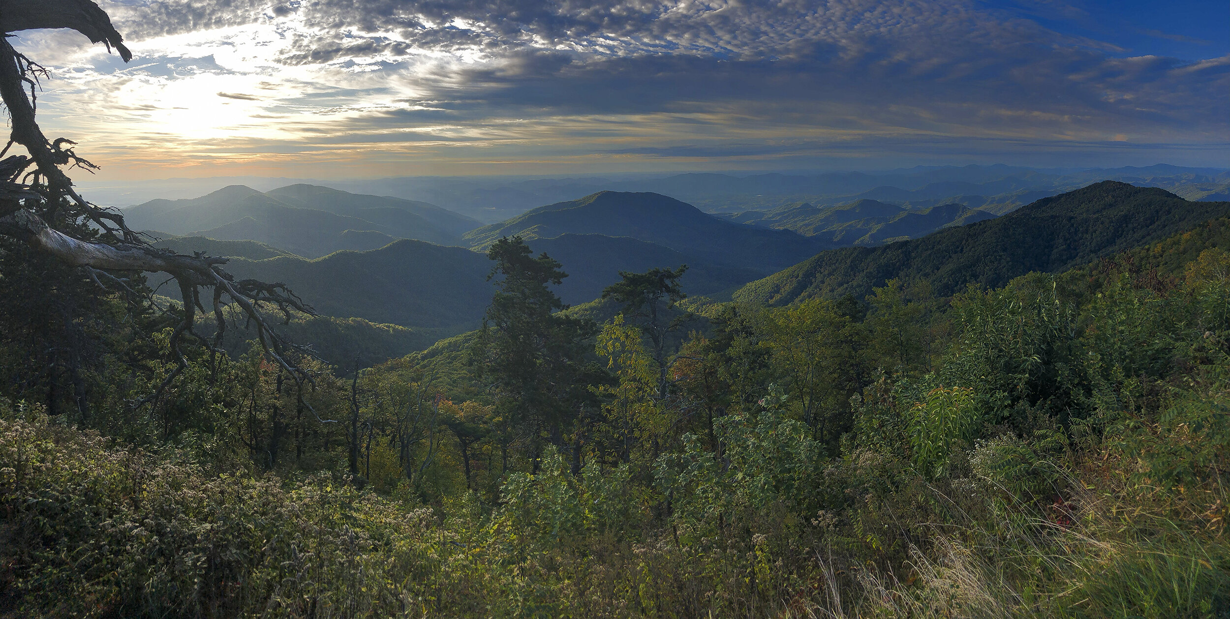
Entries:
[[100, 5], [15, 39], [100, 179], [1230, 167], [1225, 0]]

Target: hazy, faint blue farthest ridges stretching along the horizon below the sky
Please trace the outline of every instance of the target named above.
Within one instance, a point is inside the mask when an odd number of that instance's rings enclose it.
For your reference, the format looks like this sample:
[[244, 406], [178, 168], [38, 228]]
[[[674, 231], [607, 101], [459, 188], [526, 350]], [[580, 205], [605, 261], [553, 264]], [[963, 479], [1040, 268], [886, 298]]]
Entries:
[[[706, 173], [673, 176], [614, 174], [611, 177], [394, 177], [355, 181], [310, 181], [257, 177], [144, 181], [124, 187], [82, 179], [82, 195], [98, 204], [127, 206], [156, 195], [203, 194], [221, 185], [250, 184], [262, 190], [292, 183], [328, 185], [354, 194], [395, 195], [423, 200], [492, 224], [544, 204], [571, 200], [600, 190], [653, 192], [692, 204], [706, 212], [769, 211], [788, 204], [831, 206], [892, 187], [907, 193], [884, 201], [910, 208], [964, 204], [996, 215], [1041, 198], [1069, 192], [1100, 181], [1119, 181], [1140, 187], [1161, 187], [1193, 200], [1218, 200], [1215, 189], [1230, 183], [1223, 168], [1154, 165], [1118, 168], [1028, 168], [1020, 166], [915, 166], [878, 172]], [[945, 183], [968, 183], [945, 185]], [[1015, 184], [1014, 184], [1015, 183]], [[969, 187], [969, 185], [977, 185]], [[1005, 187], [1006, 185], [1006, 187]], [[1020, 189], [999, 193], [1009, 187]], [[1210, 189], [1214, 189], [1210, 192]], [[1204, 194], [1210, 194], [1205, 197]], [[224, 222], [215, 224], [220, 225]], [[199, 227], [198, 227], [199, 230]]]

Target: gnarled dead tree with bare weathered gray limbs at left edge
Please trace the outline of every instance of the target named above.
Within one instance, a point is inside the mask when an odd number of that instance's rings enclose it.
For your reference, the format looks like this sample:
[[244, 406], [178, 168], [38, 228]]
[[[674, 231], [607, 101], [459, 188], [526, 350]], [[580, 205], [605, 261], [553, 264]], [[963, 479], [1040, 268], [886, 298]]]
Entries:
[[[0, 0], [0, 33], [7, 36], [10, 32], [33, 28], [73, 28], [95, 43], [103, 42], [108, 49], [114, 48], [125, 61], [132, 59], [107, 14], [90, 0]], [[213, 316], [218, 322], [219, 338], [226, 327], [221, 312], [221, 303], [226, 297], [256, 324], [257, 338], [271, 359], [290, 372], [300, 384], [309, 378], [308, 371], [288, 359], [293, 346], [273, 330], [262, 313], [264, 310], [274, 310], [289, 319], [290, 312], [296, 310], [315, 316], [312, 308], [285, 285], [257, 280], [236, 281], [221, 268], [228, 262], [225, 258], [181, 255], [157, 249], [141, 235], [129, 230], [119, 211], [90, 204], [73, 189], [71, 179], [60, 166], [87, 171], [96, 166], [76, 156], [70, 147], [75, 142], [64, 138], [49, 141], [38, 127], [34, 119], [34, 97], [41, 75], [46, 76], [41, 66], [20, 54], [0, 36], [0, 98], [12, 123], [9, 145], [0, 151], [0, 157], [14, 144], [28, 152], [28, 156], [12, 155], [0, 160], [0, 235], [21, 241], [66, 264], [81, 267], [100, 285], [100, 274], [105, 280], [122, 281], [106, 271], [160, 271], [175, 278], [183, 297], [183, 318], [170, 344], [177, 365], [155, 393], [139, 404], [156, 400], [186, 367], [187, 361], [181, 350], [186, 335], [194, 337], [208, 349], [215, 350], [214, 345], [193, 330], [197, 310], [204, 312], [200, 305], [202, 287], [213, 287]], [[127, 285], [121, 287], [128, 294], [133, 292]]]

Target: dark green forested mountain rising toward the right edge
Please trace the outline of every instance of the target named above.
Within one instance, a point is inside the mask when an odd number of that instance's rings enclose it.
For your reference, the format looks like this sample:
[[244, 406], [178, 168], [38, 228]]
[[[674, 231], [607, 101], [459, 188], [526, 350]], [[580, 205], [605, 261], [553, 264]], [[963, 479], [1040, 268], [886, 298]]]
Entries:
[[968, 284], [1001, 286], [1030, 271], [1070, 269], [1228, 212], [1230, 203], [1187, 201], [1162, 189], [1105, 181], [922, 238], [822, 252], [748, 284], [734, 298], [786, 305], [861, 297], [889, 279], [927, 281], [935, 294], [952, 295]]

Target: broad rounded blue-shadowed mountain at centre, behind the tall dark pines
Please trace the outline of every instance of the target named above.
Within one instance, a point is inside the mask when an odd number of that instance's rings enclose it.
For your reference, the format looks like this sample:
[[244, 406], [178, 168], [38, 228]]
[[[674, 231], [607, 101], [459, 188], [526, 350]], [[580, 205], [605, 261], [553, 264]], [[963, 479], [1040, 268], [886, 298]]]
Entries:
[[653, 193], [600, 192], [540, 206], [465, 235], [482, 249], [504, 236], [550, 238], [565, 233], [631, 237], [696, 259], [771, 273], [831, 247], [785, 230], [742, 226]]

